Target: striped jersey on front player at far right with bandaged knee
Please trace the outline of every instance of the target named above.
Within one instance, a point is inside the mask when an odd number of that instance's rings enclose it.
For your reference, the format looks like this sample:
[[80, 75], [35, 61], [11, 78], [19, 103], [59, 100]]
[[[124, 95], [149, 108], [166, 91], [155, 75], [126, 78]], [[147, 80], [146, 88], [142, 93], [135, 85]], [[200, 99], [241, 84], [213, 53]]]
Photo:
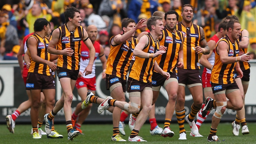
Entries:
[[[228, 36], [223, 37], [219, 40], [219, 42], [226, 42], [228, 45], [228, 56], [230, 57], [236, 57], [239, 53], [239, 40], [235, 40], [234, 43], [230, 41]], [[234, 68], [236, 66], [236, 63], [232, 64], [223, 64], [220, 61], [219, 54], [217, 53], [217, 47], [219, 45], [219, 42], [216, 44], [215, 47], [215, 63], [213, 66], [213, 69], [211, 71], [211, 79], [210, 81], [212, 83], [218, 83], [218, 84], [230, 84], [234, 83]]]

